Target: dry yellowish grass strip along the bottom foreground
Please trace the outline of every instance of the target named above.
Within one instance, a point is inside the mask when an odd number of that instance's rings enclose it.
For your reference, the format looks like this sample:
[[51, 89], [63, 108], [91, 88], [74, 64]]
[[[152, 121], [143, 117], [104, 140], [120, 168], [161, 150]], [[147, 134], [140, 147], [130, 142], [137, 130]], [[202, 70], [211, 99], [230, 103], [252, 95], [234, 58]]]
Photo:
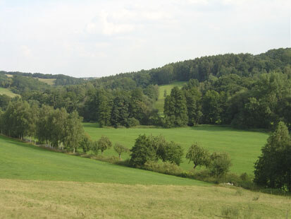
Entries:
[[225, 187], [0, 179], [0, 218], [287, 218], [284, 196]]

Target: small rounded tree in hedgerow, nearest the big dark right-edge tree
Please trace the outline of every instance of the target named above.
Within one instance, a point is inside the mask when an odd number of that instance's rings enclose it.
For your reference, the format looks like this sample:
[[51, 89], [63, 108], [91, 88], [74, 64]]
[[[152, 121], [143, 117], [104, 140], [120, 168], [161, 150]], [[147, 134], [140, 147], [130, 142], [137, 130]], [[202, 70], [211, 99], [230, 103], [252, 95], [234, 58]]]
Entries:
[[216, 177], [222, 177], [225, 175], [229, 169], [231, 164], [230, 156], [228, 153], [224, 152], [214, 152], [210, 156], [210, 164], [209, 169], [211, 171], [211, 174], [215, 175]]

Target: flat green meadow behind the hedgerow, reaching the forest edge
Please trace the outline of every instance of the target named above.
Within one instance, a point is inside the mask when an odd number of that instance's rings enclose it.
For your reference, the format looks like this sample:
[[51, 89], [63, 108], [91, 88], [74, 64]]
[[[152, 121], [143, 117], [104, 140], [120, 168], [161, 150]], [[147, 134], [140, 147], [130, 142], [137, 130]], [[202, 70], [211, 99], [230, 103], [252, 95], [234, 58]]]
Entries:
[[[167, 141], [179, 143], [185, 152], [195, 141], [204, 148], [213, 151], [226, 151], [230, 154], [233, 162], [232, 172], [238, 174], [242, 172], [252, 173], [254, 162], [261, 154], [261, 147], [266, 143], [268, 134], [258, 131], [242, 131], [223, 126], [201, 125], [196, 127], [185, 127], [175, 129], [113, 129], [98, 128], [97, 124], [84, 124], [85, 131], [97, 140], [102, 135], [108, 136], [113, 143], [119, 142], [131, 148], [139, 134], [159, 134], [165, 136]], [[117, 155], [111, 148], [106, 150], [104, 155]], [[128, 155], [123, 158], [128, 158]], [[181, 167], [190, 170], [192, 164], [188, 164], [184, 159]]]

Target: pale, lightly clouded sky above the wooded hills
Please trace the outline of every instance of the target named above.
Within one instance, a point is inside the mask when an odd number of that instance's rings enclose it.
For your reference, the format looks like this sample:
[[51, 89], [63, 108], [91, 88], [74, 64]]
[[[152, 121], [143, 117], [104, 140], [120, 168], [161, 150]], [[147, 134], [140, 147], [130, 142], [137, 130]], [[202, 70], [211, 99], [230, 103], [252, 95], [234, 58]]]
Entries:
[[290, 47], [289, 0], [0, 0], [0, 70], [101, 77]]

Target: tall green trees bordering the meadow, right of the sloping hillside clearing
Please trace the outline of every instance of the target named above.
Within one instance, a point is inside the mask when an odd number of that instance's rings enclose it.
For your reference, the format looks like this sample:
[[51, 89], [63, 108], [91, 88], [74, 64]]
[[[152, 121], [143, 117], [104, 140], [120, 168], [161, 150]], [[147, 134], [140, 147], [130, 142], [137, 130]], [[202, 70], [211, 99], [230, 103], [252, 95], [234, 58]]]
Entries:
[[199, 83], [190, 80], [165, 99], [163, 126], [231, 124], [238, 128], [273, 129], [283, 121], [291, 128], [291, 75], [236, 75]]

